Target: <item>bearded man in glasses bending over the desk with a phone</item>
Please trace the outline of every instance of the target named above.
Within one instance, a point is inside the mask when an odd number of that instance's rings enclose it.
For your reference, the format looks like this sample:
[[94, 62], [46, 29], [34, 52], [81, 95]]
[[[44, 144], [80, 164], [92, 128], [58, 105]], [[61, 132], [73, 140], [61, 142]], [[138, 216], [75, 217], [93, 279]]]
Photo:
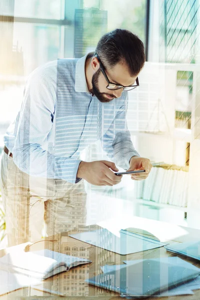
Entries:
[[79, 152], [100, 140], [117, 165], [145, 179], [148, 158], [134, 149], [126, 125], [127, 91], [139, 85], [145, 61], [141, 40], [128, 30], [103, 35], [94, 53], [58, 59], [28, 77], [21, 109], [4, 136], [1, 190], [8, 244], [85, 223], [83, 179], [112, 186], [121, 181], [114, 162], [81, 161]]

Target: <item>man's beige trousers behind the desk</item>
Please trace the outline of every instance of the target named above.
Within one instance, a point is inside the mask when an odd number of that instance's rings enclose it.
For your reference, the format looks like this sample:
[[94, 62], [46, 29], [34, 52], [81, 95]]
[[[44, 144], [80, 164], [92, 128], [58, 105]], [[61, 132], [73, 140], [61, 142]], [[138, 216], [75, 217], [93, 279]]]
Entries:
[[8, 246], [85, 225], [86, 192], [83, 180], [41, 178], [22, 172], [2, 151], [0, 185]]

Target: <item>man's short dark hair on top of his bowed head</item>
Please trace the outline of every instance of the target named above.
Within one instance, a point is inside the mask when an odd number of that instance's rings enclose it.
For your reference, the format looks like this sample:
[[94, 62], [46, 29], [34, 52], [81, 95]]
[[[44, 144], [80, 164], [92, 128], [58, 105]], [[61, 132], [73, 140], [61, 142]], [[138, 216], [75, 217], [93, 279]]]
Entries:
[[106, 68], [125, 63], [130, 76], [142, 69], [145, 61], [144, 45], [139, 37], [126, 29], [114, 29], [98, 41], [95, 52]]

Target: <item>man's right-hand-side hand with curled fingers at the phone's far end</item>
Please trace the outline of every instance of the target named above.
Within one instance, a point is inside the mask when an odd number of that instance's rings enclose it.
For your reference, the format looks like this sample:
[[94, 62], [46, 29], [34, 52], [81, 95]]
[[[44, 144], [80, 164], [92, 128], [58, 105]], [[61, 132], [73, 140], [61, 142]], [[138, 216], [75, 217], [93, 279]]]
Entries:
[[132, 156], [129, 162], [129, 169], [127, 171], [136, 171], [145, 169], [143, 173], [130, 174], [133, 180], [143, 180], [146, 179], [150, 173], [152, 164], [148, 158]]

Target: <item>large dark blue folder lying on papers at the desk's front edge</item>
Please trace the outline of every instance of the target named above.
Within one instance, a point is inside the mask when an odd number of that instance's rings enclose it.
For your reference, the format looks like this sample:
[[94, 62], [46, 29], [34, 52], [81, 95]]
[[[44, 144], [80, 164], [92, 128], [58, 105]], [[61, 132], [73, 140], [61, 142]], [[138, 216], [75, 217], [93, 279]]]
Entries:
[[148, 297], [185, 285], [200, 274], [200, 269], [170, 262], [143, 259], [108, 273], [87, 279], [88, 283], [116, 291], [121, 296]]

